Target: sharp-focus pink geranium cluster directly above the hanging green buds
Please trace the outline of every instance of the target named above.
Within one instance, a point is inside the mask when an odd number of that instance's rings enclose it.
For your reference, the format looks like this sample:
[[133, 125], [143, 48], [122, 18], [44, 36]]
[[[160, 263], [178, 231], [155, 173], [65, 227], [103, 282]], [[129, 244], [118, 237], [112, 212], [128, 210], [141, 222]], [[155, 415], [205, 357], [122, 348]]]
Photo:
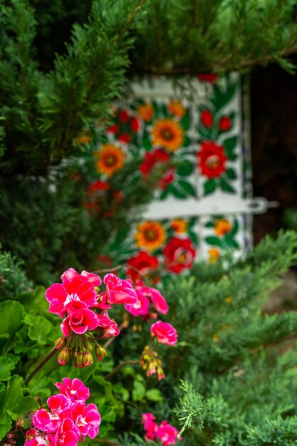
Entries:
[[106, 274], [103, 282], [105, 291], [98, 294], [95, 287], [102, 281], [97, 274], [82, 271], [78, 274], [70, 268], [62, 276], [62, 284], [53, 284], [46, 291], [50, 303], [49, 311], [63, 319], [61, 330], [64, 336], [71, 333], [82, 335], [87, 331], [101, 331], [103, 338], [117, 336], [118, 325], [108, 316], [112, 304], [133, 305], [137, 295], [130, 281], [115, 274]]

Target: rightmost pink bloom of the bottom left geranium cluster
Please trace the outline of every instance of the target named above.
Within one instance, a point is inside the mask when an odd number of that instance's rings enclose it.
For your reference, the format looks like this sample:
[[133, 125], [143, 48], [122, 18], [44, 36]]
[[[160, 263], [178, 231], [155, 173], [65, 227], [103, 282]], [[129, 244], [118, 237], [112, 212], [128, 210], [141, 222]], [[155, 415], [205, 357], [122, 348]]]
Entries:
[[98, 435], [101, 417], [95, 404], [85, 406], [85, 403], [82, 402], [75, 403], [72, 416], [75, 426], [78, 427], [80, 435], [83, 437], [82, 441], [87, 435], [90, 438], [95, 438]]

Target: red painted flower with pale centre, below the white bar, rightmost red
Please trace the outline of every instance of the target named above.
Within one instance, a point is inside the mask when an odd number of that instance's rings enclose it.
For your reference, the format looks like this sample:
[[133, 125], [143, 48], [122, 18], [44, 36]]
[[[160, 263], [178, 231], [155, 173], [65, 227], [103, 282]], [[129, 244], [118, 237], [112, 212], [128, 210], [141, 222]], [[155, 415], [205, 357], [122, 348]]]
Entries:
[[183, 269], [191, 268], [196, 251], [190, 239], [172, 237], [163, 254], [167, 271], [179, 273]]

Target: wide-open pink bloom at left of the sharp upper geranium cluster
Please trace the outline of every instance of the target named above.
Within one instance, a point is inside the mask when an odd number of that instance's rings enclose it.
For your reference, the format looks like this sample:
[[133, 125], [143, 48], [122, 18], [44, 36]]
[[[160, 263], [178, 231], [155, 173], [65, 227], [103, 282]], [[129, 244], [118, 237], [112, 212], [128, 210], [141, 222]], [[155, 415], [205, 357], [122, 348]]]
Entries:
[[68, 304], [73, 301], [83, 302], [90, 308], [95, 304], [96, 295], [93, 283], [80, 275], [64, 279], [63, 284], [53, 284], [46, 290], [46, 299], [50, 303], [49, 311], [61, 317], [67, 312]]

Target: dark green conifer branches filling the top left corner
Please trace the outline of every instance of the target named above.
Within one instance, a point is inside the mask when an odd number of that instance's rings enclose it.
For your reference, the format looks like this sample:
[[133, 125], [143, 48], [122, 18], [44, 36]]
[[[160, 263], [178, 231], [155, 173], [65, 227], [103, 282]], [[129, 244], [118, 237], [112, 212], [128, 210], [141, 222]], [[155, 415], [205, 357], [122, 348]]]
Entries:
[[36, 61], [33, 7], [27, 0], [11, 0], [8, 6], [1, 1], [5, 170], [46, 172], [73, 154], [73, 139], [87, 123], [106, 117], [123, 87], [132, 43], [126, 22], [136, 6], [137, 0], [93, 1], [88, 20], [73, 25], [66, 52], [56, 54], [53, 69], [44, 73]]

